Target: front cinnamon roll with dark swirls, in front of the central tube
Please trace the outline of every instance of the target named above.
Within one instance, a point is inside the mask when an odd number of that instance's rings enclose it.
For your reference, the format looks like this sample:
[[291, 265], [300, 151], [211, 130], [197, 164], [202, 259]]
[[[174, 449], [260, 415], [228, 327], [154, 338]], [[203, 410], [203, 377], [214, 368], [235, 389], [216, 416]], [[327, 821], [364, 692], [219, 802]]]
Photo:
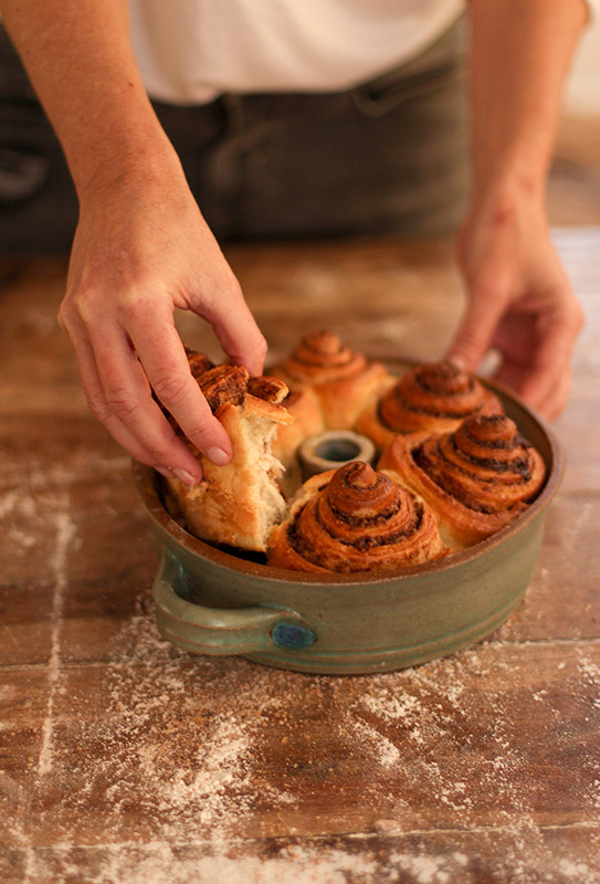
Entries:
[[270, 537], [267, 561], [298, 571], [407, 568], [448, 555], [431, 509], [361, 461], [309, 478]]

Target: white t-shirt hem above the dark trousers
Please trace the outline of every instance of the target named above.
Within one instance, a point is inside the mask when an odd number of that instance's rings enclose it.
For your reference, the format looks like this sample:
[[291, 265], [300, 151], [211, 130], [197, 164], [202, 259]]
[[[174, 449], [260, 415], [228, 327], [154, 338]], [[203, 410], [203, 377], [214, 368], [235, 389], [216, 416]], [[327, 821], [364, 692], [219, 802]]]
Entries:
[[131, 44], [152, 98], [336, 92], [417, 55], [464, 0], [129, 0]]

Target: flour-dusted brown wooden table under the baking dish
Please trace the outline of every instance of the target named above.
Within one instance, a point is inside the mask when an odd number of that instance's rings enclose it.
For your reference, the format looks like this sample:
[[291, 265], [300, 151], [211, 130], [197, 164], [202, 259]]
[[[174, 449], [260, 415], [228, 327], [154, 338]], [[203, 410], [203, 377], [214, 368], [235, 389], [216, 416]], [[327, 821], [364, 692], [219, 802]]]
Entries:
[[[0, 878], [43, 884], [600, 882], [600, 230], [557, 230], [588, 324], [568, 469], [524, 604], [488, 641], [378, 676], [194, 657], [159, 636], [129, 460], [87, 413], [62, 261], [0, 293]], [[433, 359], [446, 243], [228, 254], [277, 358], [335, 328]], [[213, 339], [179, 317], [188, 344]]]

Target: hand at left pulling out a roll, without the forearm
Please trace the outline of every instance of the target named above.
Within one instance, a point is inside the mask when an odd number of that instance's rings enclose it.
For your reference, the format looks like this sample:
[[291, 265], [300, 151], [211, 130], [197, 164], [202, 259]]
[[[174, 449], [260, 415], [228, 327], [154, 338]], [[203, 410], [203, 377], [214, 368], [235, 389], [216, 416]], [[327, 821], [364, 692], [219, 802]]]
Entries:
[[192, 379], [175, 307], [208, 320], [232, 362], [262, 371], [265, 340], [182, 173], [129, 177], [81, 198], [60, 322], [90, 408], [134, 457], [191, 485], [200, 464], [152, 390], [211, 461], [232, 451]]

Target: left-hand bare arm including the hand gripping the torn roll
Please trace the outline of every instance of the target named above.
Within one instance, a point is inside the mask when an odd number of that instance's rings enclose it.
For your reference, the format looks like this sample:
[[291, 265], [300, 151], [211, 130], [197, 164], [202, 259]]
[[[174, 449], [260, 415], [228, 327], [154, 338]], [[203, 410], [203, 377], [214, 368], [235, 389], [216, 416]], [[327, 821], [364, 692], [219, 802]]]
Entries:
[[197, 460], [151, 398], [215, 463], [229, 438], [192, 380], [173, 308], [207, 319], [260, 372], [266, 350], [141, 84], [126, 0], [1, 0], [4, 23], [61, 140], [80, 222], [60, 319], [93, 413], [135, 457], [187, 484]]

